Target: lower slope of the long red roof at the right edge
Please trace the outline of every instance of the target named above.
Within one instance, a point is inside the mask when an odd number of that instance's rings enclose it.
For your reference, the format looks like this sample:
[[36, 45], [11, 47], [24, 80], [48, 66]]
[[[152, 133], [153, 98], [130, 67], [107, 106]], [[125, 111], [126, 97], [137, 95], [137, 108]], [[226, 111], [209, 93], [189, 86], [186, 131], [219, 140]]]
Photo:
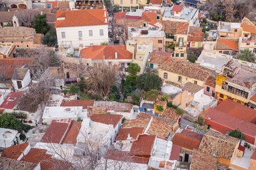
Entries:
[[211, 120], [207, 120], [209, 122], [216, 122], [220, 124], [219, 128], [223, 131], [226, 131], [226, 127], [229, 127], [233, 130], [239, 129], [243, 134], [256, 137], [256, 125], [250, 122], [245, 122], [244, 120], [241, 120], [241, 118], [230, 116], [227, 113], [216, 110], [215, 108], [209, 108], [204, 117], [211, 118]]

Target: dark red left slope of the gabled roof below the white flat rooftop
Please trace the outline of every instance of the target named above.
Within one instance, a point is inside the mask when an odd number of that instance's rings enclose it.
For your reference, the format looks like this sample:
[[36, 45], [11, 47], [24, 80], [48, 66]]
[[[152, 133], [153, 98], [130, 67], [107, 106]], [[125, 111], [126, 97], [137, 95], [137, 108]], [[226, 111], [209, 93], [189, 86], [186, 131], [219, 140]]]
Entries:
[[45, 132], [41, 142], [43, 143], [61, 143], [61, 140], [67, 134], [68, 131], [67, 123], [54, 122], [52, 121], [50, 127]]

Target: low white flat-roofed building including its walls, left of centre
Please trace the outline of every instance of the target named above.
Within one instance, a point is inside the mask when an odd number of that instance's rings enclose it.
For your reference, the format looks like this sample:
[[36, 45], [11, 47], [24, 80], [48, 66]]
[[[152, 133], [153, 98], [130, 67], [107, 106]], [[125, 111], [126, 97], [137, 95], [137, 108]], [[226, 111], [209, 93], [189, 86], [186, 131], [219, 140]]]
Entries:
[[51, 124], [52, 120], [59, 120], [64, 118], [70, 118], [72, 120], [77, 120], [81, 117], [86, 118], [87, 112], [83, 112], [82, 106], [77, 107], [61, 107], [61, 106], [52, 106], [45, 107], [43, 114], [43, 122]]

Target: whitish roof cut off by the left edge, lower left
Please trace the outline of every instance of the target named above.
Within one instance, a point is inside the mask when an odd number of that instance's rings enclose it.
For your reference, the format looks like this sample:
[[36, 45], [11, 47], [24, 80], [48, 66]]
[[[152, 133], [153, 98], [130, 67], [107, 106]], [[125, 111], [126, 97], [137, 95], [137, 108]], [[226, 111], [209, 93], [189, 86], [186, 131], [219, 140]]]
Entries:
[[7, 148], [13, 145], [13, 139], [19, 132], [13, 129], [0, 128], [0, 147]]

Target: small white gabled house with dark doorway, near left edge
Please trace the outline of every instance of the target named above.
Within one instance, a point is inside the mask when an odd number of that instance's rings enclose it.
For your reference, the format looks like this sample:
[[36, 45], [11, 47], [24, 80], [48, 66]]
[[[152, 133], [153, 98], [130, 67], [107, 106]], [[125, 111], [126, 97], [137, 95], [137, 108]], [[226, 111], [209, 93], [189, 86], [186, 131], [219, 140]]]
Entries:
[[31, 82], [30, 73], [28, 68], [17, 68], [15, 69], [12, 76], [12, 83], [14, 89], [22, 89], [26, 87]]

